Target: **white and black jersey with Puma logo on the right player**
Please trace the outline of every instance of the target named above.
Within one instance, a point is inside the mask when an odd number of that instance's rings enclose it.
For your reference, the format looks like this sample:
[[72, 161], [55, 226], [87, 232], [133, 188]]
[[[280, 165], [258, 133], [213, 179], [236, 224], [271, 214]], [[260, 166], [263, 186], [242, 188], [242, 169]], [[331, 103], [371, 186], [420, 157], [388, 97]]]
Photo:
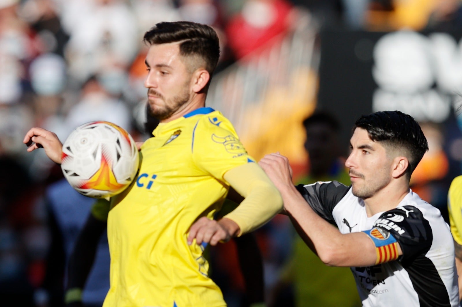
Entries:
[[397, 260], [351, 267], [363, 306], [460, 306], [449, 226], [419, 195], [409, 191], [395, 209], [367, 217], [364, 202], [351, 187], [332, 181], [297, 189], [341, 233], [377, 227], [400, 244], [403, 254]]

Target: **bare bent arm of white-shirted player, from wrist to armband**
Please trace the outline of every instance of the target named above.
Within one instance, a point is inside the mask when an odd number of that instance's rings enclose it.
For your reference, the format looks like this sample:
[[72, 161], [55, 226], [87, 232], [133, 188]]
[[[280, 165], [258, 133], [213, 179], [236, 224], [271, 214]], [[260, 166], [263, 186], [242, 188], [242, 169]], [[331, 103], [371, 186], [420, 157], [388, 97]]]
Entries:
[[342, 234], [316, 214], [295, 187], [281, 190], [284, 207], [307, 245], [328, 266], [374, 265], [373, 243], [364, 233]]

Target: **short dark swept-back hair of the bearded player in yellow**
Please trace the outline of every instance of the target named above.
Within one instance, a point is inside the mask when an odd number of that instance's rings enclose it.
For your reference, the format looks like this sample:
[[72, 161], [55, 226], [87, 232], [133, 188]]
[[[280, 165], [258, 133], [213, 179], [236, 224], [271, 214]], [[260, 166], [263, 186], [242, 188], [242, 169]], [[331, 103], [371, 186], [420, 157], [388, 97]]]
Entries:
[[180, 42], [180, 54], [200, 56], [206, 63], [204, 68], [211, 76], [220, 56], [217, 32], [207, 24], [161, 22], [145, 33], [143, 41], [150, 45]]

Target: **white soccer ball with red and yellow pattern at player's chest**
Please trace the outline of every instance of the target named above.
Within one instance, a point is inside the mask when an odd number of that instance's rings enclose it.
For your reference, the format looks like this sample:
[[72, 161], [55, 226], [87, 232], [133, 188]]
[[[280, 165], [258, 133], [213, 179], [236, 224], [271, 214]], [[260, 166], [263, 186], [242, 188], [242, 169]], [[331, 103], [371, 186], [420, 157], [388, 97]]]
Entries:
[[133, 138], [109, 122], [75, 128], [62, 146], [64, 177], [80, 194], [94, 198], [121, 193], [133, 181], [139, 162]]

